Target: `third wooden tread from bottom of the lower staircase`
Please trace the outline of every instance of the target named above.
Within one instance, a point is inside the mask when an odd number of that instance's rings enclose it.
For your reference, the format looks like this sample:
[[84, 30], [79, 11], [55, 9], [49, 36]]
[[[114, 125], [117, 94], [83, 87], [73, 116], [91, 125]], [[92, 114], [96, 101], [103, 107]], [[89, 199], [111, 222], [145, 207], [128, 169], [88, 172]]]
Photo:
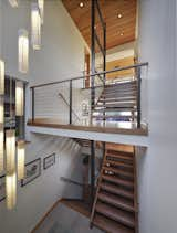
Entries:
[[133, 201], [128, 200], [128, 199], [125, 199], [123, 197], [118, 197], [118, 195], [115, 195], [115, 194], [111, 194], [111, 193], [105, 193], [105, 192], [101, 192], [98, 193], [98, 200], [105, 202], [105, 203], [108, 203], [108, 204], [112, 204], [114, 206], [117, 206], [122, 210], [126, 210], [126, 211], [129, 211], [129, 212], [135, 212], [135, 209], [134, 209], [134, 204], [133, 204]]

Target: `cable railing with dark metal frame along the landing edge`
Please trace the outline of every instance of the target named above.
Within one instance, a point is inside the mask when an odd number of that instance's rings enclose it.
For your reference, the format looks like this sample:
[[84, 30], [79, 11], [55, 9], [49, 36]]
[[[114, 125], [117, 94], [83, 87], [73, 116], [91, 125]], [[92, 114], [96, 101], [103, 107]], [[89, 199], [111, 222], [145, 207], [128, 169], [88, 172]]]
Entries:
[[[80, 123], [93, 124], [92, 112], [97, 103], [97, 99], [103, 94], [105, 84], [95, 84], [97, 76], [103, 76], [115, 72], [121, 72], [129, 68], [135, 70], [135, 80], [137, 81], [137, 113], [136, 121], [137, 128], [140, 128], [142, 124], [142, 68], [147, 66], [148, 63], [139, 63], [125, 67], [117, 67], [110, 71], [96, 72], [90, 75], [82, 75], [76, 77], [71, 77], [63, 81], [55, 81], [44, 84], [38, 84], [31, 86], [31, 120], [35, 121], [38, 119], [51, 119], [59, 124], [72, 125], [75, 124], [74, 119], [81, 119]], [[92, 77], [93, 82], [90, 89], [85, 88], [85, 81], [87, 77]], [[121, 78], [119, 78], [121, 80]], [[116, 86], [117, 84], [106, 84], [107, 86]], [[100, 87], [100, 88], [97, 88]], [[85, 91], [83, 91], [85, 89]], [[94, 89], [94, 96], [93, 91]], [[82, 92], [81, 92], [82, 91]], [[64, 96], [67, 105], [62, 100], [59, 102], [59, 93]], [[116, 95], [118, 93], [116, 92]], [[94, 102], [93, 102], [94, 100]], [[94, 106], [92, 106], [94, 105]], [[103, 113], [106, 110], [105, 103], [103, 102]], [[103, 121], [105, 121], [103, 119]]]

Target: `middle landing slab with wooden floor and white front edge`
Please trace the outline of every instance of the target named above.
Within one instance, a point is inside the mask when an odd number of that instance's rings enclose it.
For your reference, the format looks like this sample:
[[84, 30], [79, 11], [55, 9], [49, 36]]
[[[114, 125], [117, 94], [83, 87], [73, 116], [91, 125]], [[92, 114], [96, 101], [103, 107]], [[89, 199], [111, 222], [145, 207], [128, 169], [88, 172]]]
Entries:
[[148, 129], [132, 123], [66, 125], [52, 119], [28, 121], [30, 133], [148, 147]]

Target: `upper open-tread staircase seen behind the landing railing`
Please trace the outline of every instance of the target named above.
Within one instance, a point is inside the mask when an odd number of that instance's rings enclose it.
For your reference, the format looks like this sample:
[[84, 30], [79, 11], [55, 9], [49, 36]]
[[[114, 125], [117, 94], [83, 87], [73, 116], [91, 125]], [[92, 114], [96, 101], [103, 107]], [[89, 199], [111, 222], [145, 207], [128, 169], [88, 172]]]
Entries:
[[137, 81], [106, 85], [94, 106], [96, 121], [134, 121], [137, 115]]

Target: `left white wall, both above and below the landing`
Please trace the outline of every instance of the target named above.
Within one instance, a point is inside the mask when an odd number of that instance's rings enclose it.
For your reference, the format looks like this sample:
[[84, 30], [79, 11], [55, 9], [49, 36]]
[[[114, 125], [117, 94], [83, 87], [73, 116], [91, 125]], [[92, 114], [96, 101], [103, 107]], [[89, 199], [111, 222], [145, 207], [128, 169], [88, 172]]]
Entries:
[[[18, 9], [12, 9], [7, 0], [0, 8], [0, 45], [6, 73], [31, 84], [60, 81], [77, 75], [84, 67], [84, 46], [80, 32], [60, 0], [45, 1], [45, 19], [42, 29], [42, 49], [32, 51], [30, 46], [30, 68], [27, 75], [18, 72], [18, 30], [30, 32], [30, 2], [21, 0]], [[29, 91], [28, 91], [29, 97]], [[27, 99], [27, 115], [30, 113]], [[56, 152], [55, 166], [42, 171], [42, 176], [27, 187], [18, 187], [18, 204], [7, 211], [6, 202], [0, 203], [0, 232], [29, 233], [52, 204], [64, 198], [80, 198], [81, 189], [60, 181], [60, 177], [72, 177], [81, 181], [82, 158], [80, 148], [72, 140], [63, 142], [60, 137], [31, 134], [27, 149], [27, 162], [38, 157]]]

